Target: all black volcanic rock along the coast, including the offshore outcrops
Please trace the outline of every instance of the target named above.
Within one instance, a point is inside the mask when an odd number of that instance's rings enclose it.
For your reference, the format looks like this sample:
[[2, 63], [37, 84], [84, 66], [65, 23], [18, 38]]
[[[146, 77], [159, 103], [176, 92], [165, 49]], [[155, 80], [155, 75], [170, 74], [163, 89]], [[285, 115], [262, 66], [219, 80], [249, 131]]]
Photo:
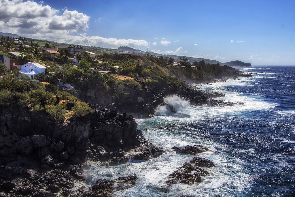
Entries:
[[[181, 86], [178, 89], [144, 84], [142, 92], [132, 95], [113, 109], [96, 108], [83, 117], [57, 121], [46, 113], [27, 109], [1, 108], [0, 113], [0, 196], [112, 196], [113, 191], [130, 188], [136, 177], [126, 175], [113, 180], [96, 180], [90, 188], [73, 188], [86, 181], [86, 161], [99, 161], [102, 166], [118, 165], [129, 160], [146, 161], [163, 154], [163, 150], [147, 141], [137, 129], [135, 117], [148, 117], [169, 94], [185, 97], [192, 105], [226, 106], [230, 103], [213, 98], [224, 97], [218, 92], [203, 92]], [[87, 97], [87, 94], [85, 94]], [[95, 95], [89, 100], [96, 99]], [[114, 109], [117, 107], [117, 109]], [[137, 112], [137, 113], [135, 113]], [[173, 147], [181, 154], [195, 155], [204, 146]], [[194, 157], [168, 175], [167, 188], [172, 184], [194, 184], [209, 176], [201, 167], [213, 167], [208, 159]]]

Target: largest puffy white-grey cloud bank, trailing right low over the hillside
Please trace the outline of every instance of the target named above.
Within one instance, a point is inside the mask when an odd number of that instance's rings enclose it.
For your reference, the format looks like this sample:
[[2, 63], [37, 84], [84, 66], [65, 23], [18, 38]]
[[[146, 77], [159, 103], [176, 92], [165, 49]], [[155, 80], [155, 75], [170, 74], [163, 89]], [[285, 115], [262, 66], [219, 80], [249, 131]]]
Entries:
[[[102, 47], [148, 46], [146, 40], [87, 36], [90, 17], [76, 10], [57, 10], [42, 2], [0, 0], [0, 31], [61, 43]], [[99, 22], [101, 18], [96, 19]]]

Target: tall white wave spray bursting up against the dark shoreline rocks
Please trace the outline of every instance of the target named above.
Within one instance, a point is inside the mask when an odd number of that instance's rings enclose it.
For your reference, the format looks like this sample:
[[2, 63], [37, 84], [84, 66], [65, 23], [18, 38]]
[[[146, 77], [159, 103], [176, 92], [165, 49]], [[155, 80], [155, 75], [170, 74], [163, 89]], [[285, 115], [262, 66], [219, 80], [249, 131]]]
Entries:
[[164, 98], [165, 105], [159, 105], [155, 115], [189, 115], [187, 110], [190, 102], [178, 95], [169, 95]]

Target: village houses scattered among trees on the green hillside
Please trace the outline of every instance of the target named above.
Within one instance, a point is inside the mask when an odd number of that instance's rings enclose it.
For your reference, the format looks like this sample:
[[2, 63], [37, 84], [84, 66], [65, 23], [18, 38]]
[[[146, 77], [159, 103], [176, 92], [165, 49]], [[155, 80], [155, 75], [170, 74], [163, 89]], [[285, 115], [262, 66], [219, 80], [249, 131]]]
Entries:
[[[50, 73], [50, 66], [59, 65], [60, 69], [62, 69], [64, 64], [73, 68], [80, 68], [79, 64], [89, 63], [90, 70], [95, 70], [100, 74], [113, 75], [115, 78], [122, 80], [132, 79], [132, 77], [137, 77], [139, 74], [138, 72], [126, 71], [127, 67], [130, 66], [130, 62], [127, 62], [127, 66], [124, 66], [116, 61], [109, 61], [109, 58], [105, 57], [108, 56], [107, 53], [101, 55], [92, 51], [84, 51], [81, 45], [50, 45], [50, 43], [45, 43], [41, 46], [37, 42], [28, 42], [24, 37], [1, 36], [0, 38], [0, 63], [4, 64], [9, 71], [20, 71], [22, 76], [26, 76], [28, 79], [43, 80]], [[124, 60], [126, 61], [126, 57], [132, 53], [122, 51], [115, 54], [125, 57]], [[150, 56], [150, 53], [147, 50], [147, 53], [143, 55]], [[184, 62], [189, 65], [176, 62], [173, 58], [160, 57], [160, 60], [167, 66], [197, 68], [196, 65], [191, 65], [187, 59]], [[140, 65], [136, 66], [140, 67]], [[137, 68], [138, 70], [142, 70], [142, 68]], [[58, 84], [71, 87], [69, 84], [65, 85], [63, 81], [58, 82]]]

